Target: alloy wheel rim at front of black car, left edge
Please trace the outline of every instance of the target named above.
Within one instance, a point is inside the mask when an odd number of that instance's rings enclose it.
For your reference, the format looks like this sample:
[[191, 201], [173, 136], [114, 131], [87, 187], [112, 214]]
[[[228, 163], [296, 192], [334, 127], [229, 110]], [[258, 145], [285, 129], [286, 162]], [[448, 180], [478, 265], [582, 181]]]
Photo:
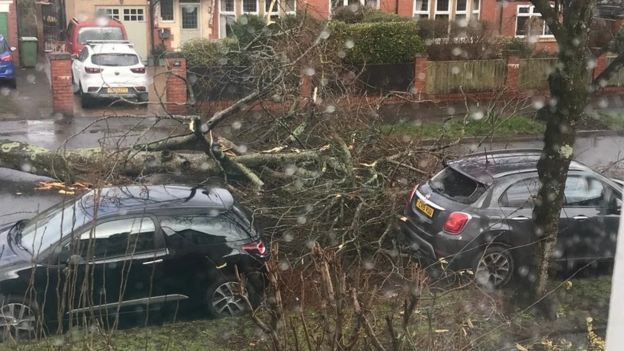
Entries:
[[8, 338], [31, 339], [35, 335], [35, 313], [27, 305], [8, 303], [0, 308], [0, 330]]

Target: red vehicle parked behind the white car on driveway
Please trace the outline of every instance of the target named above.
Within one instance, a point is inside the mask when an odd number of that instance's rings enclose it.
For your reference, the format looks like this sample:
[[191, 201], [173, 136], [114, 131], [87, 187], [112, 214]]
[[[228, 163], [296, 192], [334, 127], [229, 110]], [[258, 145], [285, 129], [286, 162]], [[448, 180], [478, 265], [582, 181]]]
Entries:
[[74, 56], [91, 40], [128, 40], [126, 28], [121, 21], [98, 17], [95, 20], [79, 21], [72, 18], [65, 31], [65, 50]]

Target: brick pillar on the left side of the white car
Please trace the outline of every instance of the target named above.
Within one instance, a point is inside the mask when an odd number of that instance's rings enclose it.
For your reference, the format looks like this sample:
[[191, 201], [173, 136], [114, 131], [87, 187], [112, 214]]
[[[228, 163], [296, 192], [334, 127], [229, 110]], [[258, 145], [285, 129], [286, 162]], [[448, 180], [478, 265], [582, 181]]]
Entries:
[[72, 92], [71, 56], [68, 53], [51, 54], [50, 77], [52, 86], [52, 109], [65, 117], [74, 116]]

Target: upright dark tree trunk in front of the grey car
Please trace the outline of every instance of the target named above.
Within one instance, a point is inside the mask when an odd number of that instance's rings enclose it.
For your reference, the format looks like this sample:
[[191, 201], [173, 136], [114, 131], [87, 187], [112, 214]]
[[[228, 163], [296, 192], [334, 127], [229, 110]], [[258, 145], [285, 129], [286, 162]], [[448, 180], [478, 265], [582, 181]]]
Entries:
[[[540, 3], [544, 14], [549, 13], [548, 2]], [[570, 161], [572, 160], [576, 124], [589, 102], [590, 70], [587, 50], [593, 1], [578, 1], [565, 5], [562, 22], [546, 16], [559, 44], [559, 64], [549, 77], [551, 101], [542, 109], [546, 119], [544, 149], [538, 162], [541, 187], [533, 211], [535, 237], [538, 251], [535, 264], [536, 282], [533, 285], [534, 301], [544, 297], [547, 289], [549, 260], [553, 256], [559, 231], [559, 216], [564, 201], [564, 189]]]

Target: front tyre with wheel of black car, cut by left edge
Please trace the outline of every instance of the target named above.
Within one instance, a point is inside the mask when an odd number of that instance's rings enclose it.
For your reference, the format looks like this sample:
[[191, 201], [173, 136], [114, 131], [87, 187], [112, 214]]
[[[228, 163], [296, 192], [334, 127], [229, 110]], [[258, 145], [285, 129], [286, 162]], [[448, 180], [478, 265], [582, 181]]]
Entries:
[[0, 340], [34, 339], [37, 331], [38, 305], [24, 297], [0, 298]]

